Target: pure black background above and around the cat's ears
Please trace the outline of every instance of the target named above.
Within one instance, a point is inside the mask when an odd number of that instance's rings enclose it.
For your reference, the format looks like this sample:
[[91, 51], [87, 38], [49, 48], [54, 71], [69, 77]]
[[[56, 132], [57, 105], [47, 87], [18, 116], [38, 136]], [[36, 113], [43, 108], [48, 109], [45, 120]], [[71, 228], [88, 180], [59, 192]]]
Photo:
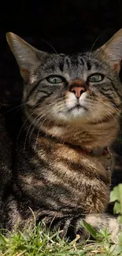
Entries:
[[122, 1], [119, 0], [2, 2], [0, 95], [16, 100], [20, 93], [20, 74], [6, 43], [6, 32], [20, 35], [39, 50], [53, 52], [50, 43], [57, 53], [74, 53], [91, 50], [93, 44], [94, 49], [101, 46], [120, 28]]

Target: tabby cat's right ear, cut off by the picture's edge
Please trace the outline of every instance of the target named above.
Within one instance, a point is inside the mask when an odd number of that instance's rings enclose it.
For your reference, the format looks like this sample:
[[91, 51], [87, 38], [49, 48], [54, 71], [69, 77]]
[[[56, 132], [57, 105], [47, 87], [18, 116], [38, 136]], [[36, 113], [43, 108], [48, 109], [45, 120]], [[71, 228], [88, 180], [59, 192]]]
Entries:
[[122, 60], [122, 28], [101, 49], [106, 58], [109, 58], [109, 63], [119, 72], [120, 61]]

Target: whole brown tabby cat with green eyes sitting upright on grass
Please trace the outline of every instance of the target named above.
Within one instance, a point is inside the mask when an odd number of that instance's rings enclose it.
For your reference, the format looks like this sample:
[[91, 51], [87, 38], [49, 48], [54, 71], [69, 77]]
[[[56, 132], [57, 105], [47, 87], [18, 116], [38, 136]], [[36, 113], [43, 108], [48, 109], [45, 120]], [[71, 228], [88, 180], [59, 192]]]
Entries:
[[[23, 228], [35, 214], [63, 236], [86, 236], [84, 219], [113, 234], [106, 151], [120, 124], [122, 29], [83, 54], [48, 54], [6, 34], [24, 80], [23, 126], [17, 137], [12, 191], [3, 228]], [[111, 161], [111, 159], [110, 159]], [[2, 218], [1, 218], [2, 219]]]

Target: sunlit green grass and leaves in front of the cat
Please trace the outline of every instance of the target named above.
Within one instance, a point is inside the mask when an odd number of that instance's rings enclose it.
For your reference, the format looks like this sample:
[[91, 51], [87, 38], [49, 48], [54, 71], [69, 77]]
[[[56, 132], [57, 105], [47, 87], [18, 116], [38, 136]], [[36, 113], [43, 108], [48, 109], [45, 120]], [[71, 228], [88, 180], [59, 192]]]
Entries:
[[[115, 187], [111, 193], [111, 202], [115, 202], [114, 212], [119, 213], [122, 221], [122, 184]], [[35, 222], [35, 217], [34, 217]], [[15, 228], [13, 233], [3, 236], [0, 232], [0, 256], [122, 256], [122, 232], [119, 242], [114, 244], [108, 229], [96, 232], [91, 225], [81, 221], [83, 227], [93, 237], [94, 241], [78, 243], [76, 236], [71, 243], [60, 238], [60, 232], [50, 232], [42, 222], [38, 226], [30, 224], [23, 232]]]

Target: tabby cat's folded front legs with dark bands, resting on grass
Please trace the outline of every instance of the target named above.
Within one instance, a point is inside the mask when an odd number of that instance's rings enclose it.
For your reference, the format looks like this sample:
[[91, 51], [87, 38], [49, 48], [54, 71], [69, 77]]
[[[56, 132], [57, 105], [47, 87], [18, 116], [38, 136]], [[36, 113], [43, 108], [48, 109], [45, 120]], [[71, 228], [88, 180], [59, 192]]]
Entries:
[[62, 218], [57, 217], [55, 219], [53, 219], [53, 217], [44, 218], [44, 221], [46, 221], [46, 223], [48, 222], [48, 226], [50, 225], [51, 229], [61, 230], [61, 237], [66, 237], [68, 241], [71, 241], [76, 238], [76, 235], [79, 235], [79, 242], [86, 241], [91, 237], [91, 235], [82, 227], [81, 221], [83, 220], [87, 221], [88, 224], [91, 224], [96, 231], [108, 228], [108, 231], [111, 234], [111, 241], [113, 243], [118, 243], [118, 235], [122, 225], [117, 221], [117, 217], [110, 216], [107, 213], [90, 213], [87, 214], [86, 217], [67, 216]]

